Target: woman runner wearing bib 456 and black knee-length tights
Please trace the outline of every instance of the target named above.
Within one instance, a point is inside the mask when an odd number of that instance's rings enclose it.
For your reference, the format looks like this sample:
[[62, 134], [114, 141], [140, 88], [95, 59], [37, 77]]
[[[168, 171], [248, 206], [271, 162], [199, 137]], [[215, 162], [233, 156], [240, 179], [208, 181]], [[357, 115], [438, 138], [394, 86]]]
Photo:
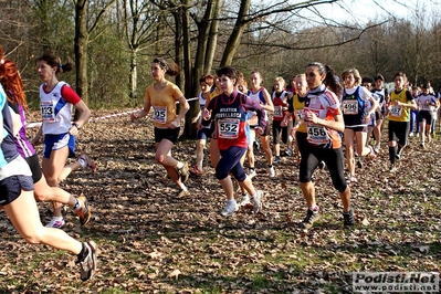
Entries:
[[344, 157], [342, 138], [345, 124], [340, 103], [335, 93], [340, 93], [340, 84], [336, 74], [328, 65], [314, 62], [306, 67], [308, 93], [305, 98], [303, 119], [306, 123], [306, 145], [302, 154], [300, 181], [303, 196], [308, 207], [302, 224], [304, 229], [313, 227], [321, 218], [319, 208], [315, 201], [315, 187], [312, 181], [314, 170], [322, 160], [328, 167], [334, 187], [343, 203], [344, 225], [354, 225], [353, 208], [350, 207], [350, 189], [344, 175]]

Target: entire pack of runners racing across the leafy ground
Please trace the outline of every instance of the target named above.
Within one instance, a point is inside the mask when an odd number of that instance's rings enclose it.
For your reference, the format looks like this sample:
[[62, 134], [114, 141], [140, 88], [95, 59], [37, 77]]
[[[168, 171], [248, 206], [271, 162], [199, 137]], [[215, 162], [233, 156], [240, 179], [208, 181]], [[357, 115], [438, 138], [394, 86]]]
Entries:
[[[23, 84], [14, 63], [4, 57], [0, 61], [3, 124], [0, 204], [28, 242], [44, 243], [76, 254], [81, 277], [85, 281], [93, 276], [96, 269], [96, 244], [93, 241], [78, 242], [55, 229], [64, 224], [61, 203], [73, 207], [82, 225], [87, 224], [91, 218], [86, 197], [74, 197], [59, 187], [77, 168], [96, 170], [96, 165], [85, 154], [65, 166], [67, 158], [75, 157], [75, 136], [88, 120], [91, 112], [66, 83], [56, 78], [57, 73], [72, 69], [70, 62], [62, 64], [57, 56], [45, 54], [38, 60], [38, 64], [43, 81], [40, 87], [42, 127], [29, 141], [25, 136]], [[171, 155], [181, 119], [189, 109], [182, 92], [166, 78], [166, 75], [172, 76], [178, 72], [164, 59], [155, 59], [151, 62], [155, 83], [146, 90], [143, 109], [130, 116], [135, 120], [153, 112], [155, 160], [178, 186], [178, 196], [191, 195], [186, 187], [190, 174], [204, 175], [203, 150], [210, 139], [211, 166], [225, 193], [221, 214], [232, 216], [240, 207], [248, 204], [253, 207], [254, 213], [260, 212], [264, 192], [256, 189], [252, 181], [256, 176], [254, 145], [255, 136], [259, 136], [270, 178], [276, 175], [274, 164], [281, 161], [281, 143], [286, 145], [286, 155], [296, 155], [300, 186], [306, 203], [302, 227], [306, 230], [321, 218], [313, 182], [317, 168], [327, 167], [342, 199], [344, 227], [353, 227], [349, 183], [357, 181], [356, 166], [361, 168], [365, 158], [375, 159], [380, 151], [385, 117], [389, 119], [390, 171], [395, 171], [396, 159], [400, 159], [407, 145], [410, 111], [420, 111], [421, 130], [426, 130], [420, 135], [421, 146], [424, 147], [426, 138], [430, 138], [434, 109], [439, 105], [428, 85], [422, 86], [420, 96], [413, 97], [406, 87], [406, 74], [401, 72], [395, 75], [395, 88], [389, 95], [381, 75], [361, 78], [356, 69], [348, 69], [339, 77], [330, 66], [313, 62], [305, 67], [305, 74], [293, 76], [288, 86], [282, 77], [276, 77], [270, 93], [262, 86], [261, 73], [251, 74], [248, 90], [243, 75], [232, 66], [224, 66], [216, 72], [216, 77], [207, 74], [199, 81], [201, 108], [192, 119], [198, 124], [196, 162], [190, 167], [187, 161]], [[180, 104], [179, 113], [177, 103]], [[80, 116], [72, 123], [73, 107], [80, 111]], [[270, 147], [271, 133], [273, 150]], [[33, 145], [42, 134], [44, 149], [41, 169]], [[374, 147], [369, 144], [371, 134], [376, 140]], [[243, 168], [245, 159], [248, 174]], [[242, 199], [238, 203], [234, 193], [239, 190]], [[35, 200], [54, 203], [54, 217], [46, 227], [41, 224]]]

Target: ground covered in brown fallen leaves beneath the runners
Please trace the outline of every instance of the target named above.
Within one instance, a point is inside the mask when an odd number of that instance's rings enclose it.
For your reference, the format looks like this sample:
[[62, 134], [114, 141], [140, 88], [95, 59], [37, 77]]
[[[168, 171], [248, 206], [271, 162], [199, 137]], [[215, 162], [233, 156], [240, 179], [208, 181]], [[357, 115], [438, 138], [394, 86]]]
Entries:
[[[389, 174], [384, 139], [377, 160], [357, 169], [358, 182], [350, 186], [354, 230], [343, 229], [327, 170], [316, 171], [323, 219], [303, 232], [306, 208], [295, 157], [282, 157], [270, 180], [258, 153], [253, 181], [265, 191], [263, 212], [244, 209], [223, 218], [224, 195], [212, 168], [190, 178], [191, 197], [177, 197], [155, 162], [149, 119], [90, 123], [77, 151], [95, 158], [98, 170], [78, 170], [62, 187], [88, 197], [92, 222], [80, 228], [67, 208], [63, 230], [98, 244], [95, 277], [81, 282], [70, 253], [27, 244], [0, 211], [0, 293], [351, 293], [357, 271], [439, 273], [440, 143], [422, 149], [410, 138], [398, 172]], [[174, 155], [192, 164], [195, 150], [195, 141], [183, 141]], [[50, 204], [39, 208], [45, 223]]]

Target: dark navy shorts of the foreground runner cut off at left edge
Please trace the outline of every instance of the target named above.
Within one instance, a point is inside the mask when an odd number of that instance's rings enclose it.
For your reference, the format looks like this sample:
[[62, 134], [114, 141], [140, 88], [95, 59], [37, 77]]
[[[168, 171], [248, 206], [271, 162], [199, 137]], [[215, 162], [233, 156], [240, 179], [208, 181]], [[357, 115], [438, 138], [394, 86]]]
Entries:
[[33, 191], [30, 176], [11, 176], [0, 181], [0, 206], [7, 206], [19, 198], [21, 190]]

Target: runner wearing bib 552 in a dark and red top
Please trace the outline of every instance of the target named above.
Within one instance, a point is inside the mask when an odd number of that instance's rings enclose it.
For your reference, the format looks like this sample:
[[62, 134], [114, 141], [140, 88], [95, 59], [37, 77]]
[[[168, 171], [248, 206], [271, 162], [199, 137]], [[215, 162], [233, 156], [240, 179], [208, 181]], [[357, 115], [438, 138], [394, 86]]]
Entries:
[[212, 98], [203, 111], [204, 124], [212, 123], [216, 126], [216, 136], [221, 158], [216, 166], [216, 177], [222, 185], [227, 195], [227, 204], [221, 214], [227, 217], [239, 210], [239, 204], [234, 199], [233, 183], [229, 177], [231, 172], [250, 196], [254, 213], [258, 213], [262, 207], [263, 192], [255, 190], [251, 178], [246, 176], [240, 159], [246, 151], [246, 111], [256, 113], [259, 125], [255, 132], [260, 135], [266, 126], [262, 106], [234, 90], [238, 82], [239, 71], [231, 66], [218, 70], [220, 87], [222, 94]]

